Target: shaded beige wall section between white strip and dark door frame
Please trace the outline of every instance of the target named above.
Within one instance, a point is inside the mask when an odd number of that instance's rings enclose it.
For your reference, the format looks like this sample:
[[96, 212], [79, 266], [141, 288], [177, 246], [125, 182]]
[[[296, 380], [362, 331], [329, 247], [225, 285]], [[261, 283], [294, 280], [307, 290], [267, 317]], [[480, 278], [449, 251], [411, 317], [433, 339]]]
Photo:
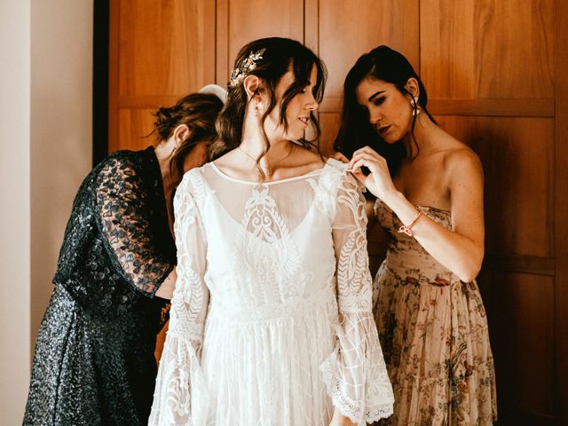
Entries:
[[[32, 2], [31, 333], [49, 302], [73, 198], [92, 164], [92, 0]], [[33, 346], [34, 343], [32, 343]]]

